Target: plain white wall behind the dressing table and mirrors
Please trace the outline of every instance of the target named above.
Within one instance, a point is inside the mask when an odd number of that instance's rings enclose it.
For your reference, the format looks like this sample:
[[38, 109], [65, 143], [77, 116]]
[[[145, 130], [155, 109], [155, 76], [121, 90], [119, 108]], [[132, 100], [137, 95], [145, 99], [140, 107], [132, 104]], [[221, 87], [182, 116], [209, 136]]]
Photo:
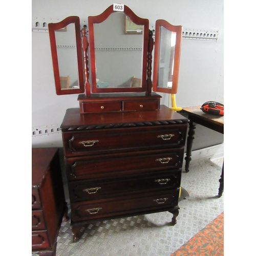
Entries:
[[[62, 20], [76, 15], [87, 22], [114, 2], [110, 0], [33, 0], [32, 18]], [[150, 20], [165, 19], [183, 29], [219, 31], [217, 41], [182, 40], [177, 105], [201, 105], [205, 101], [224, 101], [223, 96], [223, 0], [130, 0], [121, 1], [135, 14]], [[168, 105], [163, 95], [162, 104]], [[32, 32], [32, 128], [61, 124], [69, 108], [78, 108], [78, 95], [57, 96], [48, 33]], [[203, 136], [200, 136], [200, 135]], [[198, 127], [195, 148], [222, 143], [223, 135]], [[201, 138], [201, 139], [200, 139]], [[205, 140], [205, 138], [207, 138]], [[211, 138], [211, 141], [206, 142]], [[32, 146], [62, 146], [61, 133], [32, 137]]]

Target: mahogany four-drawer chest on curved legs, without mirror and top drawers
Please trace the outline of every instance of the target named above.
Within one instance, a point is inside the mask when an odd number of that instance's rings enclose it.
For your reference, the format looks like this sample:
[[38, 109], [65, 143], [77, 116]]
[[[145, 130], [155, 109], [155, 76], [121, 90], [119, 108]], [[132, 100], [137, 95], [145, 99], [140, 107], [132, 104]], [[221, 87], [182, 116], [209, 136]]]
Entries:
[[81, 225], [169, 211], [179, 214], [188, 120], [161, 105], [154, 111], [80, 114], [60, 126], [74, 241]]

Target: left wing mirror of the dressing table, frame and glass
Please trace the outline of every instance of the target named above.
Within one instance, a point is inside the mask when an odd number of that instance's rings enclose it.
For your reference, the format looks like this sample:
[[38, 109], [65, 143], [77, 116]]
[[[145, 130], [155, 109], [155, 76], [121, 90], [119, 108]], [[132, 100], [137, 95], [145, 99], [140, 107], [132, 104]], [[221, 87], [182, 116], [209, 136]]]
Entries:
[[56, 94], [84, 92], [79, 17], [49, 23], [48, 28]]

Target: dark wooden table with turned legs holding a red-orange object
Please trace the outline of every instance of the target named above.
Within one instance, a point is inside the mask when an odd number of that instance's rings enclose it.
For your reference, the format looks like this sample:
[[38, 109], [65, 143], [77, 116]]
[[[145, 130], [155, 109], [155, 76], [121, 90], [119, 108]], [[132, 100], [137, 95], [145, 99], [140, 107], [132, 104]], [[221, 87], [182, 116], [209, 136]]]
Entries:
[[[186, 148], [186, 157], [185, 157], [185, 170], [189, 172], [189, 163], [191, 161], [191, 152], [192, 152], [192, 144], [195, 138], [195, 129], [196, 126], [194, 123], [201, 124], [211, 130], [224, 134], [224, 116], [216, 116], [211, 114], [206, 114], [202, 110], [200, 110], [200, 106], [189, 106], [187, 108], [183, 108], [183, 113], [188, 114], [189, 119], [189, 131], [187, 137], [187, 148]], [[224, 161], [222, 166], [221, 178], [219, 180], [219, 197], [222, 196], [224, 190]]]

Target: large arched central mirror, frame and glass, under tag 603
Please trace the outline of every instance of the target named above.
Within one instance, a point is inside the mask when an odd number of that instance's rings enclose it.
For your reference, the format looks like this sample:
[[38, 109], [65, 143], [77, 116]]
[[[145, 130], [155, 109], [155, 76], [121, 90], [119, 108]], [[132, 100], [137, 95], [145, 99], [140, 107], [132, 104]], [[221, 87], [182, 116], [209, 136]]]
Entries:
[[88, 25], [92, 92], [145, 92], [148, 20], [110, 6]]

